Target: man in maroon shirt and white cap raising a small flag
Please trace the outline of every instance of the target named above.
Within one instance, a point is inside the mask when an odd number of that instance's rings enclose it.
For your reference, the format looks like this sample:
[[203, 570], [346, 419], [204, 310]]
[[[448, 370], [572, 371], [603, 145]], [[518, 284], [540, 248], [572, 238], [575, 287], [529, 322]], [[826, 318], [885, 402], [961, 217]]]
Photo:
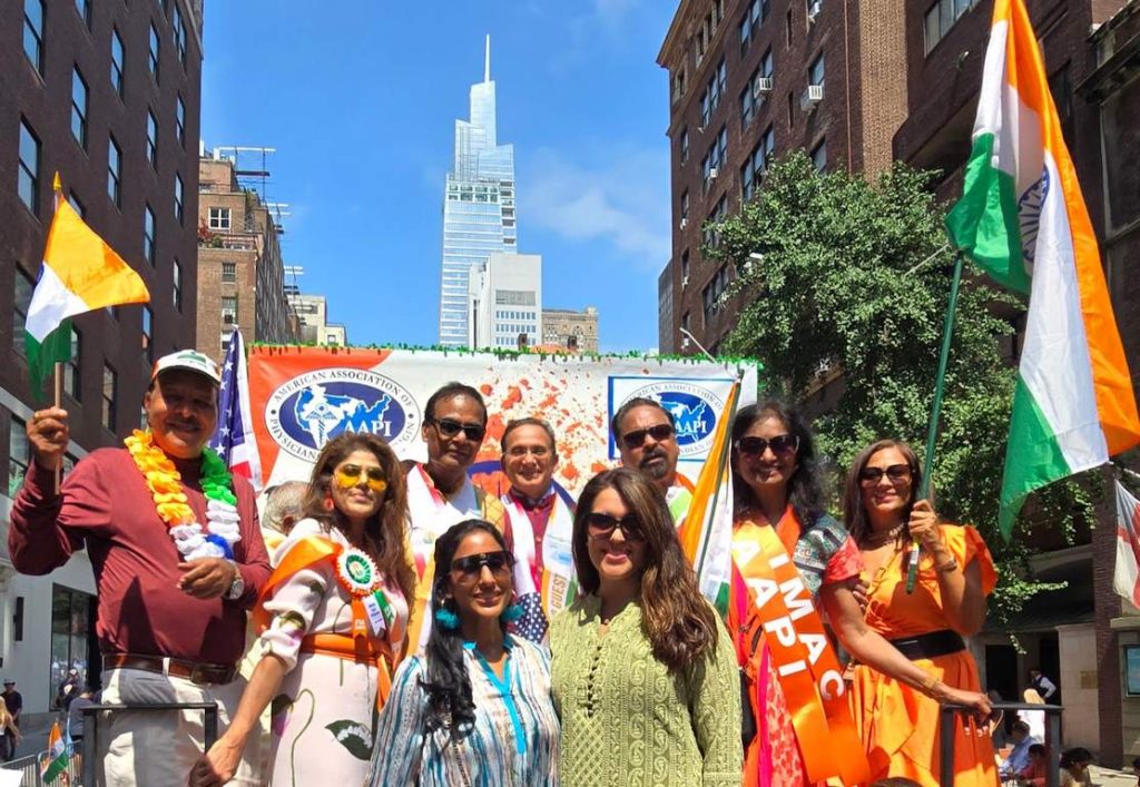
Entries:
[[[220, 379], [217, 364], [182, 350], [158, 359], [142, 398], [154, 445], [173, 463], [204, 529], [210, 519], [201, 457], [218, 423]], [[245, 610], [269, 577], [252, 487], [233, 479], [241, 537], [221, 550], [233, 557], [187, 560], [125, 449], [92, 452], [56, 492], [67, 413], [39, 411], [26, 429], [32, 462], [13, 504], [13, 565], [24, 574], [48, 574], [85, 547], [99, 597], [103, 700], [217, 701], [225, 729], [244, 688], [236, 665], [245, 643]], [[105, 784], [186, 784], [202, 754], [202, 712], [120, 712], [107, 727], [98, 731], [107, 747], [100, 753]], [[253, 782], [239, 771], [233, 784]]]

